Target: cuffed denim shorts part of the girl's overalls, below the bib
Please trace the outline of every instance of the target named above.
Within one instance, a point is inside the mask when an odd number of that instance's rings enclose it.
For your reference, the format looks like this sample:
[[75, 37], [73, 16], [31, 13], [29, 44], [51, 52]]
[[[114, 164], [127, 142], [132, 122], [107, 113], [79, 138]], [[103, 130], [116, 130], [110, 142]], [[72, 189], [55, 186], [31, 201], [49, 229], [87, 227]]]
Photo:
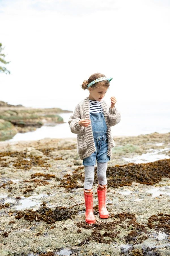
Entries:
[[94, 137], [96, 151], [90, 156], [83, 159], [82, 165], [95, 165], [97, 163], [105, 163], [110, 161], [110, 156], [107, 155], [108, 139], [107, 133], [103, 136]]

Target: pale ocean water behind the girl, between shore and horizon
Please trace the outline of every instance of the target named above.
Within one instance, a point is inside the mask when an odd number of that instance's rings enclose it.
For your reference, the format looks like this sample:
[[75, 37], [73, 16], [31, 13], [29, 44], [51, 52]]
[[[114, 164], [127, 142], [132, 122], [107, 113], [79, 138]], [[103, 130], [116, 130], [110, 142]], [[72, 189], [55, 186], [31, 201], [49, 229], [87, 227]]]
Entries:
[[[69, 107], [58, 105], [55, 107], [65, 110], [74, 110], [76, 103], [72, 102]], [[53, 105], [54, 106], [54, 105]], [[41, 106], [41, 107], [52, 107]], [[140, 134], [150, 134], [154, 132], [170, 132], [170, 102], [166, 103], [126, 103], [117, 105], [121, 113], [121, 121], [111, 127], [114, 136], [137, 136]], [[39, 140], [43, 138], [76, 138], [77, 135], [71, 133], [68, 124], [71, 113], [59, 114], [65, 123], [56, 126], [42, 126], [36, 131], [28, 133], [18, 133], [8, 141]]]

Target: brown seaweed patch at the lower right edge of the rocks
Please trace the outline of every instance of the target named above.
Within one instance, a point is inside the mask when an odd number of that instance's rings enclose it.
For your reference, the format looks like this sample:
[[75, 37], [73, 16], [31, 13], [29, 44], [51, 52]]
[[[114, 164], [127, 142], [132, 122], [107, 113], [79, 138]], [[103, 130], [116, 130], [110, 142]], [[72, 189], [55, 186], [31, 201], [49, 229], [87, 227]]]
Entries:
[[154, 228], [158, 231], [163, 231], [170, 235], [170, 214], [158, 213], [157, 215], [152, 215], [148, 218], [147, 226], [149, 228]]

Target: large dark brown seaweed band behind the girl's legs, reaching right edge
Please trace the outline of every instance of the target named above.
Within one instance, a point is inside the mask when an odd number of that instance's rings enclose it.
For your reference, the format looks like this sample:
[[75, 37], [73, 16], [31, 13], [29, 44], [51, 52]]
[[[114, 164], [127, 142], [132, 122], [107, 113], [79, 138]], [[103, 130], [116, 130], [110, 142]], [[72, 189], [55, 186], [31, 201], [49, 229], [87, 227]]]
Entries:
[[[95, 167], [95, 172], [97, 167]], [[158, 160], [146, 164], [125, 164], [107, 167], [107, 182], [109, 187], [129, 186], [132, 182], [153, 185], [159, 182], [162, 177], [170, 178], [170, 159]], [[74, 188], [82, 188], [78, 183], [84, 183], [84, 167], [80, 166], [72, 174], [66, 174], [62, 179], [57, 178], [61, 184], [58, 187], [65, 187], [66, 192]], [[94, 184], [98, 184], [97, 175]]]

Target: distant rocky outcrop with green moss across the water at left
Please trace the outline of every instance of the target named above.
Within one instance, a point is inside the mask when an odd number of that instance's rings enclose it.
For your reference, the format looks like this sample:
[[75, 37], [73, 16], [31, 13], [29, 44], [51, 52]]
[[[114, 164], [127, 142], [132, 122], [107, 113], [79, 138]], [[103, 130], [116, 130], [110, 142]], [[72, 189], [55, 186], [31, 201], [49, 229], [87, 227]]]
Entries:
[[42, 125], [63, 123], [59, 113], [72, 113], [61, 108], [26, 108], [0, 101], [0, 140], [11, 139], [16, 133], [35, 131]]

